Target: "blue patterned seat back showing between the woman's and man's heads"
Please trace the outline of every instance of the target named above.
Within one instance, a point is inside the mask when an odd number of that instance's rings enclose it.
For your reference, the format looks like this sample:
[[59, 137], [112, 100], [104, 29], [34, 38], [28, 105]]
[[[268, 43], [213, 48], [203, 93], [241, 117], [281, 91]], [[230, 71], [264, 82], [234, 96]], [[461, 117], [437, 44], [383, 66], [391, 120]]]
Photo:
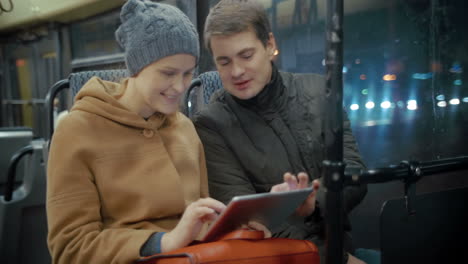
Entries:
[[[201, 88], [201, 90], [200, 90]], [[209, 103], [213, 93], [223, 88], [217, 71], [208, 71], [192, 80], [184, 98], [184, 114], [191, 117]]]

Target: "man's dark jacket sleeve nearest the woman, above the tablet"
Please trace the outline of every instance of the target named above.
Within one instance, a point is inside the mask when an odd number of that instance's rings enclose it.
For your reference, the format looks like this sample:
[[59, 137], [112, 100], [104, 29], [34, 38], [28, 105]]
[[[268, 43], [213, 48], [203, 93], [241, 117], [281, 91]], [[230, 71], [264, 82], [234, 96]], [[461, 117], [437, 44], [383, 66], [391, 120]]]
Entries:
[[210, 195], [225, 204], [232, 197], [256, 193], [241, 163], [206, 116], [194, 119], [195, 128], [205, 149]]

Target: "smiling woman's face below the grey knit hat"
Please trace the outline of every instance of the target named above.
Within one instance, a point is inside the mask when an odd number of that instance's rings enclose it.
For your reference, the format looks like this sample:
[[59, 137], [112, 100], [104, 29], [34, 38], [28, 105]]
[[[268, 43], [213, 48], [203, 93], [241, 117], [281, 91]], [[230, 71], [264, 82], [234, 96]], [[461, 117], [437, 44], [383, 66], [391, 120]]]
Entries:
[[176, 112], [192, 81], [195, 63], [193, 55], [176, 54], [153, 62], [133, 77], [139, 114], [149, 117], [155, 112]]

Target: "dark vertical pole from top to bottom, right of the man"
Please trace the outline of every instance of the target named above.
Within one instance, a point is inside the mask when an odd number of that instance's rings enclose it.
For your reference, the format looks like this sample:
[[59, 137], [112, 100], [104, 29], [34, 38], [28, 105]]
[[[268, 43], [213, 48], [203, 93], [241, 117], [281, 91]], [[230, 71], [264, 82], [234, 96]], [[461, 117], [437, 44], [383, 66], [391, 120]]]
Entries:
[[324, 185], [326, 263], [343, 263], [343, 0], [327, 1]]

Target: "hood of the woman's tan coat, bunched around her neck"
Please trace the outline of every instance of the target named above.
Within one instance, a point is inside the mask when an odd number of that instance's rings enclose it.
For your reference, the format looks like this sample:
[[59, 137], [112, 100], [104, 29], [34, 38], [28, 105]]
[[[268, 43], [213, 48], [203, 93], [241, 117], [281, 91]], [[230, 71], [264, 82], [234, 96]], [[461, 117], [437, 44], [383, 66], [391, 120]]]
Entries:
[[168, 125], [176, 114], [153, 114], [148, 120], [130, 111], [118, 98], [125, 93], [128, 81], [108, 82], [98, 77], [91, 78], [78, 92], [71, 111], [84, 111], [95, 114], [125, 126], [158, 129]]

